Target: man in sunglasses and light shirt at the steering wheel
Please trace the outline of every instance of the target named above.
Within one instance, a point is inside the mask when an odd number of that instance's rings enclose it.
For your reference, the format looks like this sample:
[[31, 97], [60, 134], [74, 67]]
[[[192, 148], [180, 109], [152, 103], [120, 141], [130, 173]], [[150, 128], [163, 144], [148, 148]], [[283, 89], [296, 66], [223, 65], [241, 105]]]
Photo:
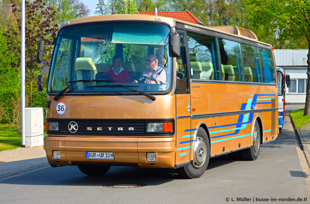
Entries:
[[[146, 60], [146, 64], [148, 65], [148, 69], [142, 72], [142, 76], [152, 77], [159, 84], [159, 90], [166, 90], [166, 72], [162, 67], [158, 67], [158, 59], [155, 55], [149, 55]], [[146, 78], [145, 83], [156, 84], [154, 80]], [[137, 80], [134, 83], [138, 83]]]

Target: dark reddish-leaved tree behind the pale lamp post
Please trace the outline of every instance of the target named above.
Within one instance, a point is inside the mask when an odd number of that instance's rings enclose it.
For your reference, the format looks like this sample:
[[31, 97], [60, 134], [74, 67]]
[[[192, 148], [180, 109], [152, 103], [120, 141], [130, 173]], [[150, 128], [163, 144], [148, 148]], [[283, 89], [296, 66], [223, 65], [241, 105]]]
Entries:
[[[26, 83], [29, 85], [29, 106], [32, 106], [33, 82], [36, 81], [37, 75], [40, 73], [40, 66], [36, 63], [38, 39], [42, 33], [57, 32], [58, 25], [54, 22], [55, 11], [42, 0], [35, 0], [31, 3], [25, 2], [25, 68]], [[13, 5], [12, 12], [14, 16], [20, 16], [20, 8]], [[20, 50], [21, 46], [21, 19], [15, 18], [16, 24], [4, 34], [7, 38], [14, 40], [14, 44]], [[47, 36], [45, 36], [47, 37]], [[50, 36], [51, 37], [51, 36]], [[46, 58], [51, 58], [52, 44], [45, 43]], [[16, 51], [16, 50], [15, 50]], [[19, 51], [20, 53], [20, 51]], [[26, 85], [27, 86], [27, 85]]]

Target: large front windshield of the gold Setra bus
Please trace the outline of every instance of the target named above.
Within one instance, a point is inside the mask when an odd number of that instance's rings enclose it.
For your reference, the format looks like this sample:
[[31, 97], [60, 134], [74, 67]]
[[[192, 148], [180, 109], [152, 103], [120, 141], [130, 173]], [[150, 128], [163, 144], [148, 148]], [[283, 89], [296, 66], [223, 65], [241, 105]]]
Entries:
[[66, 93], [166, 92], [172, 78], [169, 32], [168, 26], [154, 23], [64, 27], [55, 45], [47, 90], [58, 93], [69, 86]]

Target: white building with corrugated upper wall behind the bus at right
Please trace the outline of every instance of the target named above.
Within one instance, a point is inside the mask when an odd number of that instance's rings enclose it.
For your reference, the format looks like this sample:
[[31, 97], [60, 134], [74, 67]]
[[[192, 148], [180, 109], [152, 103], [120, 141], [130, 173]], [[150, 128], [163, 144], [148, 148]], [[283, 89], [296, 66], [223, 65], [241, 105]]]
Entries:
[[276, 66], [290, 75], [290, 88], [286, 87], [286, 104], [304, 104], [307, 89], [308, 50], [273, 50]]

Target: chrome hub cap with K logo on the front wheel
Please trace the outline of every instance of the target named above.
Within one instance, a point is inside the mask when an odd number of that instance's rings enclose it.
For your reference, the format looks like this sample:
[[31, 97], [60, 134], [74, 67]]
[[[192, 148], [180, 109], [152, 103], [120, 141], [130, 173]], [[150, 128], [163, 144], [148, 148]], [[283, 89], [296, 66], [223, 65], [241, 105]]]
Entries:
[[196, 137], [194, 144], [194, 162], [193, 166], [199, 168], [206, 161], [206, 143], [201, 137]]

